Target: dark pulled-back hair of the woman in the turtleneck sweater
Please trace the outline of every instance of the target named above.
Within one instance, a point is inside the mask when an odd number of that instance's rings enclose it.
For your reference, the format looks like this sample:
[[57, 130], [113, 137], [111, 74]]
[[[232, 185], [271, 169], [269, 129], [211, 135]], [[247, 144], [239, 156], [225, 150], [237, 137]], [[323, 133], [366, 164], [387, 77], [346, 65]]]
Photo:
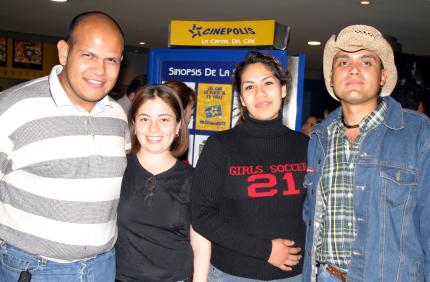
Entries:
[[240, 117], [238, 120], [238, 123], [241, 123], [244, 120], [244, 115], [248, 111], [246, 107], [244, 107], [240, 101], [241, 93], [241, 86], [242, 86], [242, 74], [245, 72], [247, 67], [252, 64], [261, 63], [266, 68], [268, 68], [273, 75], [279, 80], [281, 83], [281, 86], [286, 85], [288, 86], [288, 74], [287, 72], [284, 72], [282, 70], [282, 64], [279, 62], [278, 59], [273, 57], [272, 55], [261, 53], [261, 52], [249, 52], [245, 59], [241, 61], [234, 71], [233, 76], [233, 88], [237, 92], [237, 98], [239, 99], [238, 105], [240, 110]]

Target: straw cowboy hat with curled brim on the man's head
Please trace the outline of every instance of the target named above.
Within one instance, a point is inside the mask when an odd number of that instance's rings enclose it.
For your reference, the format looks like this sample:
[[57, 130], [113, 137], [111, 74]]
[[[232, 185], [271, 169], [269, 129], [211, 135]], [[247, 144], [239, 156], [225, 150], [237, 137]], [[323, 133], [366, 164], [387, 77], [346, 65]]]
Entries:
[[381, 88], [381, 96], [388, 96], [393, 91], [397, 83], [397, 68], [394, 64], [393, 49], [382, 34], [374, 27], [368, 25], [350, 25], [336, 35], [332, 35], [324, 48], [323, 71], [324, 81], [330, 95], [339, 100], [333, 93], [331, 82], [331, 70], [333, 57], [340, 50], [346, 52], [356, 52], [359, 50], [369, 50], [379, 56], [388, 72], [385, 85]]

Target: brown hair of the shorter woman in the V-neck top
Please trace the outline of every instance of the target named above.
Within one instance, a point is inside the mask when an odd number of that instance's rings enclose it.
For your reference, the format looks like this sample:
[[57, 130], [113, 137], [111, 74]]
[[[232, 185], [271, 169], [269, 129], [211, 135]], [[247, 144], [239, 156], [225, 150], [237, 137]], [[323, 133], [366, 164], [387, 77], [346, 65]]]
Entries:
[[163, 102], [169, 105], [175, 113], [176, 122], [181, 122], [178, 136], [176, 136], [170, 145], [170, 152], [172, 155], [175, 157], [181, 156], [187, 150], [189, 142], [188, 127], [184, 121], [184, 109], [176, 92], [165, 85], [147, 85], [139, 88], [137, 91], [136, 97], [134, 98], [128, 113], [130, 133], [132, 134], [131, 150], [133, 153], [137, 153], [140, 149], [140, 143], [136, 137], [134, 127], [137, 112], [146, 101], [156, 98], [160, 98]]

